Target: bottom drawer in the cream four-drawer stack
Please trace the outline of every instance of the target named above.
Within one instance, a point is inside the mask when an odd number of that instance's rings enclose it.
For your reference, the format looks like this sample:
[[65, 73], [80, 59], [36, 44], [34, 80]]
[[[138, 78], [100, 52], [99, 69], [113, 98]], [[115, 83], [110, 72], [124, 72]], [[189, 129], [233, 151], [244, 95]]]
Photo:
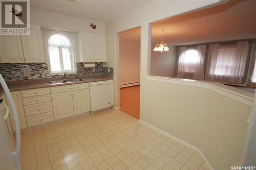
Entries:
[[47, 122], [52, 122], [54, 120], [53, 118], [53, 112], [48, 113], [41, 113], [34, 116], [28, 116], [26, 117], [28, 127], [44, 124]]

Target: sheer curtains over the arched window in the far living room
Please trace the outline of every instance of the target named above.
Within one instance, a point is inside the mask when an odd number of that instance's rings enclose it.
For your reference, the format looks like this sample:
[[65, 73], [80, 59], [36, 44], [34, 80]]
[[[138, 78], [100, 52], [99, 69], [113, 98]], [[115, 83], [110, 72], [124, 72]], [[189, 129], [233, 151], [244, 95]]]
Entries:
[[205, 51], [206, 45], [180, 47], [177, 77], [203, 80]]

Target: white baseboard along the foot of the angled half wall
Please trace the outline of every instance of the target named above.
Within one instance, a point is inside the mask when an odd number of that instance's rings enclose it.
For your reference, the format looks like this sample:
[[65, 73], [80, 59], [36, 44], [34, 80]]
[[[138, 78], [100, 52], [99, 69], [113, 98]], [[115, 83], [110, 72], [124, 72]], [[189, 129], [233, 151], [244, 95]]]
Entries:
[[203, 152], [202, 152], [199, 148], [197, 148], [197, 147], [195, 147], [194, 145], [192, 145], [192, 144], [190, 144], [190, 143], [187, 143], [186, 141], [181, 140], [180, 138], [175, 137], [175, 136], [173, 136], [173, 135], [171, 135], [171, 134], [169, 134], [169, 133], [167, 133], [167, 132], [165, 132], [165, 131], [163, 131], [163, 130], [161, 130], [161, 129], [158, 129], [157, 127], [155, 127], [155, 126], [153, 126], [153, 125], [151, 125], [151, 124], [148, 124], [148, 123], [144, 122], [144, 121], [141, 120], [141, 119], [140, 119], [139, 121], [140, 121], [142, 124], [144, 124], [144, 125], [146, 125], [146, 126], [148, 126], [148, 127], [151, 127], [152, 129], [155, 129], [156, 131], [158, 131], [158, 132], [160, 132], [160, 133], [162, 133], [162, 134], [164, 134], [164, 135], [166, 135], [166, 136], [168, 136], [168, 137], [170, 137], [170, 138], [173, 138], [173, 139], [177, 140], [178, 142], [184, 144], [186, 147], [189, 147], [189, 148], [191, 148], [191, 149], [197, 151], [197, 152], [200, 154], [200, 156], [203, 158], [204, 162], [207, 164], [207, 166], [209, 167], [209, 169], [210, 169], [210, 170], [214, 170], [214, 168], [210, 165], [209, 161], [206, 159], [206, 157], [204, 156]]

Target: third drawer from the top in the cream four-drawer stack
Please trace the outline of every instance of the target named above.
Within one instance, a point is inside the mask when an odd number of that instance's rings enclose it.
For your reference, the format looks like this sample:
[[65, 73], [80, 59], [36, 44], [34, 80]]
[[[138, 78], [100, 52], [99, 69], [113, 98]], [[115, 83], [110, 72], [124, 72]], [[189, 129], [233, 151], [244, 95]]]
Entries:
[[31, 116], [40, 113], [46, 113], [52, 111], [52, 102], [44, 102], [33, 105], [24, 106], [25, 115]]

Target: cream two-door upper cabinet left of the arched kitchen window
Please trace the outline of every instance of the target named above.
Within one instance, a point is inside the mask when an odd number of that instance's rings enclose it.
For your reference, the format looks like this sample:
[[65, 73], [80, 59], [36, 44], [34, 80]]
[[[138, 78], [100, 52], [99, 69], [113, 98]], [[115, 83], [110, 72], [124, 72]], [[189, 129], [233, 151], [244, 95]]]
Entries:
[[2, 63], [45, 62], [39, 26], [30, 25], [30, 35], [0, 36], [0, 59]]

